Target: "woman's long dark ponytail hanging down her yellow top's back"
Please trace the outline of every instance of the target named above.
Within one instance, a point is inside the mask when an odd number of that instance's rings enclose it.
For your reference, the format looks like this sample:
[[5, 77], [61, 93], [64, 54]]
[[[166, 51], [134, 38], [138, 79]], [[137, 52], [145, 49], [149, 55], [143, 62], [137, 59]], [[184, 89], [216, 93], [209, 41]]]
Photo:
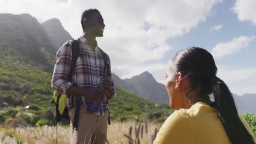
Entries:
[[226, 134], [231, 143], [254, 143], [251, 134], [241, 122], [234, 98], [224, 81], [217, 76], [212, 81], [212, 92], [214, 95], [214, 106], [218, 111]]

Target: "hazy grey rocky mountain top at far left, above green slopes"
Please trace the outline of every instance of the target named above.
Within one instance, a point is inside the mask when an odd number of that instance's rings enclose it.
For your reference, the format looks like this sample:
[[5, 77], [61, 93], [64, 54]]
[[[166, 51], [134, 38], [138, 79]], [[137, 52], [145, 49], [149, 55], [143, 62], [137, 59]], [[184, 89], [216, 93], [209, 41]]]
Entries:
[[[0, 14], [0, 40], [4, 44], [16, 48], [19, 52], [28, 52], [42, 46], [53, 52], [48, 34], [37, 19], [29, 14]], [[36, 44], [36, 45], [33, 45]]]

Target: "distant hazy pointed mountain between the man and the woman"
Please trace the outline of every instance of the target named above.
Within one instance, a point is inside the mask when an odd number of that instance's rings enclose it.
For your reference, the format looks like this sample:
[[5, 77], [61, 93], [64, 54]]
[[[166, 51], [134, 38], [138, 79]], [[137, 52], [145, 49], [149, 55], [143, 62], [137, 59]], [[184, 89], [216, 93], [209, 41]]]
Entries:
[[139, 97], [148, 99], [154, 103], [170, 103], [165, 85], [158, 83], [148, 71], [145, 71], [141, 75], [133, 76], [131, 79], [121, 80], [115, 74], [112, 78], [115, 85], [135, 95], [139, 95]]

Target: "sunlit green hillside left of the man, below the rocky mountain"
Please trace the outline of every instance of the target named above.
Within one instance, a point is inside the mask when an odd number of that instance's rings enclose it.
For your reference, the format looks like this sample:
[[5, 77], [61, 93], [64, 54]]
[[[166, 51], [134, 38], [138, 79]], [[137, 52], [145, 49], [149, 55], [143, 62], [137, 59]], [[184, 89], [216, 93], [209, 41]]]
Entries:
[[[0, 54], [0, 100], [8, 97], [20, 99], [24, 105], [49, 102], [51, 73], [43, 71], [44, 65], [36, 67], [19, 55], [16, 57], [11, 56], [11, 50]], [[26, 84], [31, 86], [31, 91], [21, 88]]]

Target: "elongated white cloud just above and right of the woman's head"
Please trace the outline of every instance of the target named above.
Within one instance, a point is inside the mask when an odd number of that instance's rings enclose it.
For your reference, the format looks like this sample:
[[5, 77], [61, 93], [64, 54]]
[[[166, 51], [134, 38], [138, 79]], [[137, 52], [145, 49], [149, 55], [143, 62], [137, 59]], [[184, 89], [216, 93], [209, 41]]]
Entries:
[[214, 58], [222, 58], [224, 56], [240, 52], [242, 49], [245, 49], [254, 39], [254, 36], [240, 36], [232, 39], [231, 41], [219, 43], [213, 47], [212, 55]]

